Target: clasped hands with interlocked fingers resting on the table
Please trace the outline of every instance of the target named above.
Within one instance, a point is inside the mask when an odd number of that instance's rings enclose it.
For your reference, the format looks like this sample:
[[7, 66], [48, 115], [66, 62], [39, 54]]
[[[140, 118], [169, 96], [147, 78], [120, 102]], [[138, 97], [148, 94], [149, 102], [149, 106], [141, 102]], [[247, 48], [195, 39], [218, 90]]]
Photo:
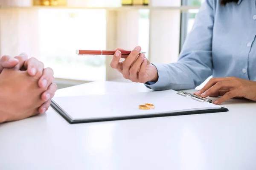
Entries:
[[0, 58], [0, 123], [45, 113], [57, 90], [52, 68], [22, 53]]

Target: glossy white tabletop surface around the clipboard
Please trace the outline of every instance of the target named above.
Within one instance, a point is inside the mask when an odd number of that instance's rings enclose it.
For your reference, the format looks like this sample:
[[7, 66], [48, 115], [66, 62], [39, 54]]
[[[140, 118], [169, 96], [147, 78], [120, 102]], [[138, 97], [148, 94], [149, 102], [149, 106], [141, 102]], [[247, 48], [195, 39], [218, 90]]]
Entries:
[[[142, 91], [92, 82], [56, 96]], [[73, 125], [49, 108], [0, 125], [0, 170], [255, 170], [256, 102], [223, 106], [230, 111]]]

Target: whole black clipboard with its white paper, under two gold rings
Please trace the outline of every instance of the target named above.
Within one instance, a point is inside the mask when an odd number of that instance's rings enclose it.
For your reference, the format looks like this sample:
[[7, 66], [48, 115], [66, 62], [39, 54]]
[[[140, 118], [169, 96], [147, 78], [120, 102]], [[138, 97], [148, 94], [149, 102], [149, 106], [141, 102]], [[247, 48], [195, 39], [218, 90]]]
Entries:
[[[127, 101], [129, 99], [133, 100], [127, 104], [127, 108], [125, 108], [125, 106], [122, 106], [123, 108], [114, 108], [115, 106], [112, 105], [113, 103], [117, 102], [122, 104], [120, 100], [111, 100], [116, 99], [116, 96], [119, 96], [122, 99], [126, 98]], [[169, 105], [166, 106], [166, 108], [163, 108], [163, 106], [168, 105], [169, 103], [166, 99], [169, 99], [170, 102], [174, 102], [174, 105]], [[143, 100], [144, 102], [149, 101], [149, 103], [154, 101], [156, 108], [151, 109], [151, 111], [139, 110], [139, 102]], [[56, 97], [51, 99], [51, 101], [51, 107], [70, 124], [219, 113], [228, 111], [227, 108], [212, 104], [212, 100], [210, 99], [195, 96], [194, 94], [189, 94], [184, 91], [177, 92], [173, 90], [151, 91], [136, 94]], [[97, 106], [95, 102], [98, 102], [98, 107], [93, 110], [93, 105]], [[102, 105], [102, 108], [100, 108], [101, 102], [107, 102], [107, 104], [105, 103], [105, 105]], [[69, 105], [67, 103], [69, 103]], [[143, 102], [140, 104], [143, 104]]]

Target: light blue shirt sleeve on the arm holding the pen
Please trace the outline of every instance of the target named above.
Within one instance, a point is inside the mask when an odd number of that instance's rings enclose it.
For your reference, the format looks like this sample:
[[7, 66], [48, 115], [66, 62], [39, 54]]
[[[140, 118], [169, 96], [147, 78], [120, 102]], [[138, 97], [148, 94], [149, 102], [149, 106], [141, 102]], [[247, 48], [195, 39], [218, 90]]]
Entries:
[[212, 75], [212, 29], [216, 0], [205, 0], [196, 14], [177, 62], [154, 64], [157, 82], [146, 82], [153, 90], [192, 89]]

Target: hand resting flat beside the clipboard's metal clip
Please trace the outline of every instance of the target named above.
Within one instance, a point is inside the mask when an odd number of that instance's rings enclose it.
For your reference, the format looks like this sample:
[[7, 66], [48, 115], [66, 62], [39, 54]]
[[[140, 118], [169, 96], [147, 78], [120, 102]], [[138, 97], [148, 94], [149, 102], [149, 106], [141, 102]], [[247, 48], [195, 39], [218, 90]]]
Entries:
[[244, 97], [256, 101], [256, 82], [236, 77], [212, 78], [194, 94], [201, 97], [221, 96], [214, 102], [216, 105], [234, 97]]

